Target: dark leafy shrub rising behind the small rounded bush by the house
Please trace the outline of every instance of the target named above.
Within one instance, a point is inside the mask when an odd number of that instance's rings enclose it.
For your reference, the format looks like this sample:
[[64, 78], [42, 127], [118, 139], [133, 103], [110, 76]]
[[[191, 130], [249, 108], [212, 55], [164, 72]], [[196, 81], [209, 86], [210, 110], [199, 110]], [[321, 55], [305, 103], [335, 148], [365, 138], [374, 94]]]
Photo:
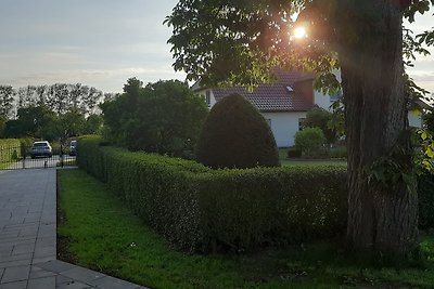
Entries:
[[303, 121], [303, 128], [320, 128], [326, 136], [328, 144], [333, 144], [337, 139], [337, 133], [330, 129], [329, 123], [333, 119], [333, 115], [320, 107], [314, 107], [306, 114]]

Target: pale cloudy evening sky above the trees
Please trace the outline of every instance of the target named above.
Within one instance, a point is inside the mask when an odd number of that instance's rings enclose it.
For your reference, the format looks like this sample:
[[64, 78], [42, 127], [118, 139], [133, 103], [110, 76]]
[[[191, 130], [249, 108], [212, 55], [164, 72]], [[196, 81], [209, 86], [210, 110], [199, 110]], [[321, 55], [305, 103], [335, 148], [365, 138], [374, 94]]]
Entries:
[[[176, 3], [0, 0], [0, 84], [80, 82], [120, 92], [130, 77], [144, 83], [183, 80], [184, 75], [171, 68], [166, 44], [171, 30], [163, 25]], [[433, 16], [426, 15], [411, 28], [418, 32], [433, 26]], [[421, 56], [416, 64], [410, 75], [434, 92], [434, 55]]]

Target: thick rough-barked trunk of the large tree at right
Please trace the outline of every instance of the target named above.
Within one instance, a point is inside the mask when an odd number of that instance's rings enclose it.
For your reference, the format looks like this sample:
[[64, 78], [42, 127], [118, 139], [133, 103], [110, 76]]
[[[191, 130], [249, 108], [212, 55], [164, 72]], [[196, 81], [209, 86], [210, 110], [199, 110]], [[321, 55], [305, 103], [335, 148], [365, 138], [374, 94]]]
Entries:
[[[356, 251], [408, 255], [417, 245], [416, 184], [368, 182], [370, 166], [408, 129], [403, 14], [396, 0], [342, 0], [340, 57], [348, 147], [347, 241]], [[404, 159], [403, 159], [404, 158]], [[401, 156], [413, 173], [410, 154]]]

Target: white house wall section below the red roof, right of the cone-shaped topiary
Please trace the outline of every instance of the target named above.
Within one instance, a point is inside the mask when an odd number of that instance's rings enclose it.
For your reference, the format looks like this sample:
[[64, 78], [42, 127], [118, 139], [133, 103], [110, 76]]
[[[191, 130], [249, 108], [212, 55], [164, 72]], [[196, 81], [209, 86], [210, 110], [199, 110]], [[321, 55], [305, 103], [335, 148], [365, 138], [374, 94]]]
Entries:
[[298, 131], [298, 119], [306, 118], [306, 113], [261, 113], [271, 120], [271, 131], [279, 147], [294, 145], [294, 135]]

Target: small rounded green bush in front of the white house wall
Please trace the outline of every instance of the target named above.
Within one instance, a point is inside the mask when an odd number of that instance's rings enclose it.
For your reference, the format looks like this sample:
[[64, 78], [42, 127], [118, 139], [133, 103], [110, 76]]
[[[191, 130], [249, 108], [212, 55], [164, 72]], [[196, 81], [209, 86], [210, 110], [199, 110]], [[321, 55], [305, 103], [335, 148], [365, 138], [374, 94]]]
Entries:
[[295, 147], [306, 157], [316, 157], [323, 154], [326, 136], [320, 128], [305, 128], [295, 133]]

